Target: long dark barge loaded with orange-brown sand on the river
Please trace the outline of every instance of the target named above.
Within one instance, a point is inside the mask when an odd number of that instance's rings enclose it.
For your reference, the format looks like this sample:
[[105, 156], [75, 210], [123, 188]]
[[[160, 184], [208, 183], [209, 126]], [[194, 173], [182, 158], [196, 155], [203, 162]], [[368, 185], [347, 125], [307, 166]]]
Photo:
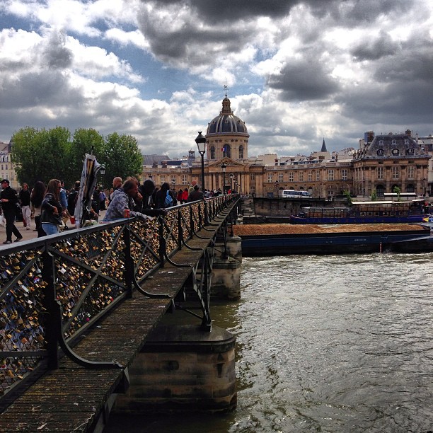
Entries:
[[433, 236], [418, 224], [242, 224], [233, 234], [244, 257], [433, 251]]

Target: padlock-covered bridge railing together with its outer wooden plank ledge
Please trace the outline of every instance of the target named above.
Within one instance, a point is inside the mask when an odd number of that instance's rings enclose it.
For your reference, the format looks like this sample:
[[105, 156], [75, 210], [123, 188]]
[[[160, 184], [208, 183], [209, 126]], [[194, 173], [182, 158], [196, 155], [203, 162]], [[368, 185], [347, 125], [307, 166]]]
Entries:
[[184, 291], [195, 296], [196, 332], [211, 333], [212, 253], [224, 251], [233, 207], [236, 197], [217, 197], [146, 224], [113, 221], [2, 249], [0, 430], [101, 432], [149, 333], [182, 307]]

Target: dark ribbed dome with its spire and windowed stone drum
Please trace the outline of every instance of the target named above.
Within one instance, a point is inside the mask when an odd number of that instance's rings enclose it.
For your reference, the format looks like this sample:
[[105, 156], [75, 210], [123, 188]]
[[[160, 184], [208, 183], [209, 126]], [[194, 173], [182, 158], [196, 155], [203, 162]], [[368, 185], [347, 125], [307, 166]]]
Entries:
[[248, 159], [249, 137], [245, 122], [233, 114], [226, 93], [219, 116], [207, 125], [207, 160]]

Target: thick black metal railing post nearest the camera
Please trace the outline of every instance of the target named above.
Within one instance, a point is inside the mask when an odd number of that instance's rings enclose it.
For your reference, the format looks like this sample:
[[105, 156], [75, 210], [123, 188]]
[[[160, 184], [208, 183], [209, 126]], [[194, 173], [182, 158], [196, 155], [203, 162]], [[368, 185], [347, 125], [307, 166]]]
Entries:
[[59, 305], [56, 301], [54, 257], [45, 250], [42, 253], [42, 279], [47, 283], [42, 305], [45, 308], [45, 340], [47, 342], [48, 368], [59, 368], [58, 336], [62, 332], [62, 318], [59, 320]]

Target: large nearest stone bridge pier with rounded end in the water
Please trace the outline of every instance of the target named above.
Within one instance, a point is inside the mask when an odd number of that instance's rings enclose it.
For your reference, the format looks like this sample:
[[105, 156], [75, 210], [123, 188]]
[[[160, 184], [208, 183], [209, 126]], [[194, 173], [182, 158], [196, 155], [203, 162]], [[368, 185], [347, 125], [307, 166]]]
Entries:
[[114, 412], [227, 412], [236, 408], [234, 335], [217, 326], [158, 325], [129, 368]]

